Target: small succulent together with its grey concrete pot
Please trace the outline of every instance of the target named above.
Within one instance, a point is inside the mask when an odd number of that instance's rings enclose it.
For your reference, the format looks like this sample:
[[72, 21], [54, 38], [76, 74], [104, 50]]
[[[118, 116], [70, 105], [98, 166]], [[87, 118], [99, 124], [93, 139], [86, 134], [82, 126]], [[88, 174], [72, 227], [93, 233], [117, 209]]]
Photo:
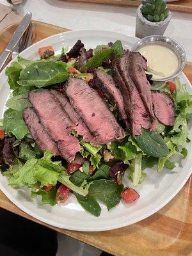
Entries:
[[136, 17], [136, 36], [163, 35], [172, 13], [164, 0], [143, 0]]

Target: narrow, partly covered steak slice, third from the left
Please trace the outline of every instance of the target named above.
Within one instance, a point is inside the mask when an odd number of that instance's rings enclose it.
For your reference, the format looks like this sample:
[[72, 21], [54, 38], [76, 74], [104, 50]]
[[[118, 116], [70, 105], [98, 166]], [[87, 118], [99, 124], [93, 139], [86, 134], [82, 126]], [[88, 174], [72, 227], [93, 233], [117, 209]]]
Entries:
[[52, 95], [56, 97], [56, 99], [60, 102], [62, 108], [65, 110], [70, 119], [74, 123], [73, 129], [77, 131], [77, 134], [83, 136], [84, 141], [89, 141], [94, 145], [97, 145], [97, 141], [93, 138], [86, 124], [84, 124], [82, 118], [77, 114], [75, 109], [71, 106], [67, 97], [60, 92], [56, 92], [56, 90], [50, 90]]

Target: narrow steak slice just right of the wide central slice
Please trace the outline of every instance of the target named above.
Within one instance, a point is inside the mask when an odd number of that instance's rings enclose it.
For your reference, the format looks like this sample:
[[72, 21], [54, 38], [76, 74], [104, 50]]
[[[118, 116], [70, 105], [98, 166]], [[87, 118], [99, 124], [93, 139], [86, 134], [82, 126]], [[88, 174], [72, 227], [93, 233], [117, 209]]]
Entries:
[[120, 119], [124, 121], [127, 126], [128, 123], [125, 113], [124, 99], [122, 97], [122, 93], [120, 93], [120, 90], [116, 88], [113, 78], [106, 74], [106, 72], [104, 72], [103, 70], [95, 70], [93, 76], [96, 80], [95, 85], [97, 86], [97, 88], [99, 88], [104, 93], [104, 95], [106, 95], [111, 104], [116, 104]]

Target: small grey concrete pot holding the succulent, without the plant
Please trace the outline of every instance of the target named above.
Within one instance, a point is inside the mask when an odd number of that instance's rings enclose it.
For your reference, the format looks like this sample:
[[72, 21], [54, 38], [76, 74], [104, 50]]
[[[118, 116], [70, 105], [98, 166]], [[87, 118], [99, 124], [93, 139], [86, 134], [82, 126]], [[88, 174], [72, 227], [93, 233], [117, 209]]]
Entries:
[[141, 13], [141, 6], [138, 7], [137, 17], [136, 17], [136, 37], [143, 38], [145, 36], [151, 35], [162, 35], [166, 27], [168, 26], [170, 19], [172, 19], [172, 12], [169, 11], [168, 17], [159, 22], [151, 22], [145, 19]]

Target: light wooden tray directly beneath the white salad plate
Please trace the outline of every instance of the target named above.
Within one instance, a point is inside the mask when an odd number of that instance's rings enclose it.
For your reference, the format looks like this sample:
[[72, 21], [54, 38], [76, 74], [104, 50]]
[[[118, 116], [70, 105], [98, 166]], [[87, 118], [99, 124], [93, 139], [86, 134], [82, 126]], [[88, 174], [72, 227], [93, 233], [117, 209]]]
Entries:
[[[33, 44], [47, 36], [68, 29], [34, 22]], [[0, 53], [16, 26], [0, 33]], [[192, 64], [184, 70], [192, 82]], [[0, 207], [24, 218], [74, 237], [117, 256], [192, 256], [192, 177], [163, 209], [143, 221], [105, 232], [76, 232], [52, 227], [21, 211], [0, 191]]]

